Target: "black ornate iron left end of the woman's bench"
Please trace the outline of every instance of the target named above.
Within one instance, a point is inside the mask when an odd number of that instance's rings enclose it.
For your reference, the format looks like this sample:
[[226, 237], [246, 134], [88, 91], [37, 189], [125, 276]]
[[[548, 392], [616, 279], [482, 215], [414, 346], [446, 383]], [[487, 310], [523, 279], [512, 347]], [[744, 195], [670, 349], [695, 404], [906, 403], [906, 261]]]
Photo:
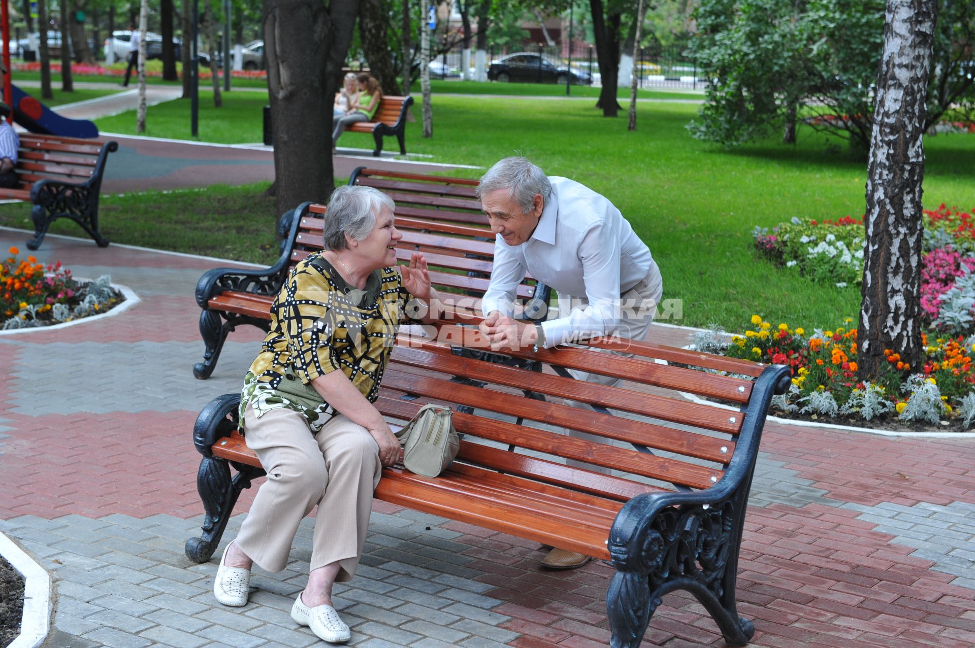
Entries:
[[251, 479], [263, 475], [260, 469], [250, 469], [230, 478], [226, 459], [204, 457], [196, 476], [196, 488], [207, 512], [203, 521], [203, 534], [186, 541], [186, 557], [194, 562], [206, 562], [216, 551], [220, 537], [227, 528], [227, 521], [241, 491], [251, 487]]

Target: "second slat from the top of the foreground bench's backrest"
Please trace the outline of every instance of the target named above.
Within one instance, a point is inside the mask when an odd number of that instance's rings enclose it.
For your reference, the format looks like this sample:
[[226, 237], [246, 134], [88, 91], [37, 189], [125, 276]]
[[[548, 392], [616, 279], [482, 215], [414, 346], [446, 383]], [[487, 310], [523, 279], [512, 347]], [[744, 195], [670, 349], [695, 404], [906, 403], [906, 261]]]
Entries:
[[[439, 339], [443, 343], [474, 349], [490, 348], [487, 339], [477, 328], [454, 324], [438, 324], [438, 328], [440, 329]], [[599, 355], [588, 353], [584, 349], [556, 347], [554, 349], [539, 349], [538, 353], [533, 353], [530, 349], [505, 350], [504, 353], [515, 358], [538, 360], [556, 366], [564, 366], [568, 369], [580, 369], [601, 374], [606, 370], [606, 364], [604, 360], [599, 358]], [[744, 403], [748, 402], [751, 393], [751, 381], [749, 380], [672, 367], [656, 362], [646, 362], [636, 358], [617, 357], [617, 359], [613, 359], [612, 371], [615, 377], [689, 392], [712, 399]], [[739, 388], [741, 388], [740, 391]], [[730, 412], [728, 416], [737, 419], [743, 418], [744, 414]]]

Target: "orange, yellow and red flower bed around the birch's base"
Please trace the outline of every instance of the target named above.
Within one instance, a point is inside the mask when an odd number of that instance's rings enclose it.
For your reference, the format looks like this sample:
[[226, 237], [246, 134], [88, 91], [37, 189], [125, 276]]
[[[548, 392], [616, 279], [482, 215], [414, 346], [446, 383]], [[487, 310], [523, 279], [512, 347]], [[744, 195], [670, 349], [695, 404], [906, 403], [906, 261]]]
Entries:
[[772, 400], [775, 416], [821, 422], [966, 431], [975, 421], [975, 336], [921, 335], [926, 359], [919, 367], [885, 350], [887, 369], [871, 382], [858, 380], [857, 329], [847, 318], [834, 330], [773, 328], [758, 315], [743, 336], [730, 343], [721, 329], [699, 334], [695, 347], [730, 358], [786, 364], [792, 372], [789, 392]]

